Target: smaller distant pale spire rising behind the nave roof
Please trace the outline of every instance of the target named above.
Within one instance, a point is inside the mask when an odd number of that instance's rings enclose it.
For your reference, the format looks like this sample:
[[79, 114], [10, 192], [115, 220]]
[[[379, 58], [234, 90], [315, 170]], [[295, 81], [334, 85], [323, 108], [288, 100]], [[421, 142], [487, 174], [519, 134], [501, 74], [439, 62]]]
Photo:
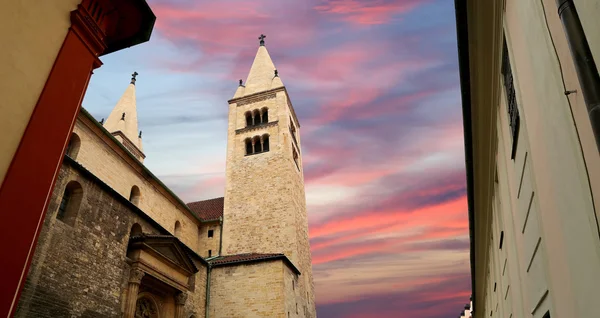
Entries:
[[131, 74], [131, 82], [121, 99], [104, 122], [104, 128], [120, 141], [140, 162], [144, 162], [142, 132], [138, 133], [137, 109], [135, 101], [135, 81], [137, 72]]

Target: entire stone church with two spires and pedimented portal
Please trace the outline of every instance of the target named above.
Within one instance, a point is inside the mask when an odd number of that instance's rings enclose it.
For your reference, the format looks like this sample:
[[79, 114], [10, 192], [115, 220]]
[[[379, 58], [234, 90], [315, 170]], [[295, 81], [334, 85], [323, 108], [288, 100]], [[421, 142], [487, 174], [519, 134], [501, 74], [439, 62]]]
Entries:
[[143, 165], [136, 75], [105, 122], [78, 115], [15, 317], [316, 317], [300, 124], [264, 36], [221, 198], [184, 203]]

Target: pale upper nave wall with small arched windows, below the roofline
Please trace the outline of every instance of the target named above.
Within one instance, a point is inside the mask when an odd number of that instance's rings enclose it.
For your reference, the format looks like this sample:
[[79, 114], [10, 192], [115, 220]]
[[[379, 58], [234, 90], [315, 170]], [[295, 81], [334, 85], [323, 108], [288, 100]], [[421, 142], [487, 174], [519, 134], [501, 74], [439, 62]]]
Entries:
[[174, 234], [175, 222], [179, 221], [179, 239], [188, 247], [197, 249], [200, 223], [144, 173], [139, 162], [127, 156], [110, 137], [82, 114], [78, 116], [73, 132], [81, 139], [77, 162], [125, 198], [129, 198], [131, 188], [137, 186], [141, 193], [138, 204], [140, 209], [171, 234]]

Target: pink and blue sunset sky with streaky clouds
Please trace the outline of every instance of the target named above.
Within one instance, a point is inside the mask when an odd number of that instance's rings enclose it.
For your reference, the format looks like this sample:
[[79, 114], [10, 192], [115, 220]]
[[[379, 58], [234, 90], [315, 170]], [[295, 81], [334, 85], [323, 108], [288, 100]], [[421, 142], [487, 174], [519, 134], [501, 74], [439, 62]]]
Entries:
[[137, 77], [145, 165], [223, 196], [227, 100], [258, 36], [301, 124], [322, 318], [455, 317], [470, 295], [452, 0], [149, 0], [150, 42], [102, 58], [98, 120]]

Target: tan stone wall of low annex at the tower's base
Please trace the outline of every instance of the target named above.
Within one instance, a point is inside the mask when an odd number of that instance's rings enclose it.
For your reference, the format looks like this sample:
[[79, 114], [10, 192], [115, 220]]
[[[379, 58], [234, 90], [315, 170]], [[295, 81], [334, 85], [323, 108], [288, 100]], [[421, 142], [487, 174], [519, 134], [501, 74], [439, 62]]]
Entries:
[[211, 318], [285, 318], [281, 260], [211, 270]]

